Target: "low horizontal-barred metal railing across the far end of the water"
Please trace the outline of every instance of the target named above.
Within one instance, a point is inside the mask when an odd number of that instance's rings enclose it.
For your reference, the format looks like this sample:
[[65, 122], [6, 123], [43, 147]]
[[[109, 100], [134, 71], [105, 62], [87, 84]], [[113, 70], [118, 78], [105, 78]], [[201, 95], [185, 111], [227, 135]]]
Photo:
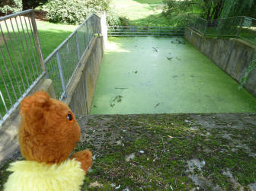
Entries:
[[109, 26], [107, 35], [112, 37], [184, 37], [184, 27]]

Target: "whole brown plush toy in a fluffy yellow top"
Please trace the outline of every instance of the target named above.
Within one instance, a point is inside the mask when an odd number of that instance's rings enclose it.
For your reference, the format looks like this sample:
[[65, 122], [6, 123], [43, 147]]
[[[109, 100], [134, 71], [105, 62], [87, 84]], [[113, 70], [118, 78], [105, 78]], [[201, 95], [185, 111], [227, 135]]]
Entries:
[[91, 151], [69, 154], [80, 138], [80, 128], [65, 103], [37, 92], [21, 102], [19, 142], [27, 161], [8, 168], [6, 191], [65, 191], [81, 189], [91, 167]]

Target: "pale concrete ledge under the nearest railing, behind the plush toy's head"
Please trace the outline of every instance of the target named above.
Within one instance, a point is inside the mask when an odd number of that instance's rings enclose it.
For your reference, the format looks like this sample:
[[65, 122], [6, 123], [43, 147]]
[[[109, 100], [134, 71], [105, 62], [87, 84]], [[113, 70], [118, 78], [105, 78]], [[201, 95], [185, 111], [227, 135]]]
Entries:
[[[28, 95], [34, 94], [36, 91], [46, 91], [50, 97], [56, 98], [53, 83], [50, 79], [41, 79]], [[20, 126], [21, 117], [19, 115], [19, 107], [11, 113], [5, 123], [0, 126], [0, 164], [11, 158], [14, 152], [19, 151], [18, 145], [18, 128]]]

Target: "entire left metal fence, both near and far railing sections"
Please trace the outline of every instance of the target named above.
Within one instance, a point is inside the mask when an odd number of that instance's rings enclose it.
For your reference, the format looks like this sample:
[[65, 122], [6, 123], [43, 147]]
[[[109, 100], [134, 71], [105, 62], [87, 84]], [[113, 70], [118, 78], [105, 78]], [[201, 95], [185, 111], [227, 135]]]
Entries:
[[91, 14], [43, 60], [33, 10], [0, 18], [0, 125], [45, 75], [53, 80], [56, 97], [66, 97], [72, 75], [98, 33], [101, 18]]

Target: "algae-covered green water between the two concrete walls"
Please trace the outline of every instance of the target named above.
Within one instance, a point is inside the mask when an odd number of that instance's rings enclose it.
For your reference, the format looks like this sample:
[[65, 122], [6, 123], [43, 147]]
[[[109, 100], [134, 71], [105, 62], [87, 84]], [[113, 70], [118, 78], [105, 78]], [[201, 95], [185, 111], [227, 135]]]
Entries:
[[184, 38], [110, 37], [91, 114], [256, 112], [238, 85]]

